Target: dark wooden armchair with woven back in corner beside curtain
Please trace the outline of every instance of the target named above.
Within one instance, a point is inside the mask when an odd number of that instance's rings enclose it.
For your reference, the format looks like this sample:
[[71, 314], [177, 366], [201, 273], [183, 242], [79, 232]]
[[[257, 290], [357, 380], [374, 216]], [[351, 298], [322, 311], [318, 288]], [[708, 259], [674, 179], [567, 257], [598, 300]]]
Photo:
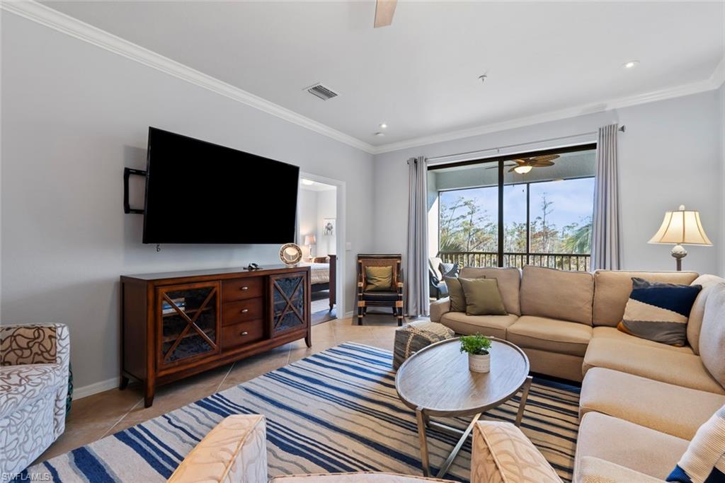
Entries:
[[[368, 307], [391, 307], [393, 315], [398, 319], [398, 326], [403, 324], [403, 271], [402, 256], [387, 255], [357, 255], [357, 325], [363, 324], [363, 316], [367, 314]], [[392, 269], [392, 283], [389, 290], [367, 290], [368, 282], [366, 269], [368, 266], [390, 266]]]

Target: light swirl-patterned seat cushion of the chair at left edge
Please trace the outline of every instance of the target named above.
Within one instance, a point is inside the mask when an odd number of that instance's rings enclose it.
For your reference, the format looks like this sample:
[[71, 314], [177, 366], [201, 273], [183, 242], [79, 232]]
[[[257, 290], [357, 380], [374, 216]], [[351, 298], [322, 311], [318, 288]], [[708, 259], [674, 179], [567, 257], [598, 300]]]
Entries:
[[28, 403], [55, 392], [68, 381], [62, 380], [58, 364], [22, 364], [0, 367], [0, 418]]

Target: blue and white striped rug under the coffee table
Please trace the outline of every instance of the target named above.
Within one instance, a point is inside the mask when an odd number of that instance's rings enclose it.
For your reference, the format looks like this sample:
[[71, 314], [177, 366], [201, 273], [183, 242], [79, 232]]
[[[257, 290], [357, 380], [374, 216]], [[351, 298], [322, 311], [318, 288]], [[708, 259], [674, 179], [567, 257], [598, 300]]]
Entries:
[[[415, 414], [397, 397], [391, 362], [387, 350], [345, 343], [38, 463], [19, 481], [164, 482], [210, 429], [239, 413], [267, 416], [270, 475], [420, 474]], [[578, 388], [534, 379], [523, 416], [523, 432], [564, 479], [571, 479], [578, 404]], [[487, 416], [512, 421], [517, 409], [518, 397]], [[428, 441], [433, 466], [455, 443], [439, 432]], [[469, 441], [447, 478], [467, 482], [470, 461]]]

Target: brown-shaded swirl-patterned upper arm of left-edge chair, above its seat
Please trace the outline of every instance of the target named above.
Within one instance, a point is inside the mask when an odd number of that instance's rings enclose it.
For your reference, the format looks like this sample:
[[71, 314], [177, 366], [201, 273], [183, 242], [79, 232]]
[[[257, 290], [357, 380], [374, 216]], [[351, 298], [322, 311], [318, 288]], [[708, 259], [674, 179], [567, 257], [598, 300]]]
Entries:
[[4, 325], [0, 327], [0, 366], [58, 364], [67, 372], [70, 334], [64, 324]]

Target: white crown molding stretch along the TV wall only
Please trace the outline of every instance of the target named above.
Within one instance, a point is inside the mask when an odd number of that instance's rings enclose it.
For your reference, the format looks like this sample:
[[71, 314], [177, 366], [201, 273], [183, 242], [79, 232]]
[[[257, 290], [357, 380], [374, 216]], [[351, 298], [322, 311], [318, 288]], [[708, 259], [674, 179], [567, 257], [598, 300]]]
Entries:
[[78, 38], [81, 41], [91, 43], [101, 49], [106, 49], [114, 54], [118, 54], [126, 57], [127, 59], [144, 64], [147, 67], [152, 67], [161, 72], [165, 72], [168, 75], [178, 77], [181, 80], [186, 80], [188, 83], [198, 85], [199, 87], [208, 89], [209, 91], [231, 98], [234, 101], [247, 104], [247, 106], [252, 106], [262, 112], [272, 114], [273, 116], [292, 122], [298, 126], [305, 127], [309, 130], [315, 131], [315, 133], [325, 135], [328, 138], [338, 140], [341, 143], [345, 143], [354, 148], [361, 149], [370, 154], [373, 154], [373, 151], [375, 151], [374, 146], [369, 143], [365, 143], [365, 141], [342, 133], [332, 127], [323, 125], [321, 122], [317, 122], [309, 117], [303, 116], [302, 114], [298, 114], [290, 109], [274, 104], [273, 102], [259, 96], [255, 96], [254, 94], [240, 88], [236, 88], [231, 84], [223, 82], [222, 80], [218, 80], [215, 77], [199, 72], [198, 70], [181, 64], [180, 62], [176, 62], [175, 60], [169, 59], [161, 54], [157, 54], [149, 49], [138, 46], [136, 43], [126, 41], [117, 35], [113, 35], [105, 30], [89, 25], [86, 22], [70, 17], [70, 15], [58, 12], [50, 7], [46, 7], [37, 1], [5, 0], [1, 1], [0, 8]]

